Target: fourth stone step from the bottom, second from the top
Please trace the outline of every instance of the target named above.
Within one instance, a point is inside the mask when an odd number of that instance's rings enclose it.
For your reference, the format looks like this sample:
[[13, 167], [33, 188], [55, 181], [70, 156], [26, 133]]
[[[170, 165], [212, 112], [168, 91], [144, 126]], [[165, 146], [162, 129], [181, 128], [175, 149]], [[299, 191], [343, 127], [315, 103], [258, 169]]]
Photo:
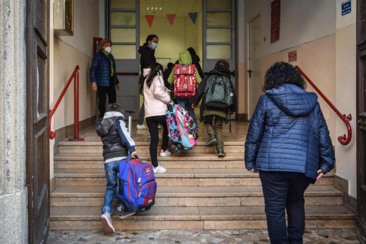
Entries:
[[[150, 163], [150, 154], [138, 155], [141, 160]], [[103, 168], [101, 153], [57, 153], [54, 156], [55, 168]], [[184, 153], [170, 157], [158, 157], [161, 166], [173, 168], [245, 168], [244, 153], [228, 153], [224, 158], [216, 153]]]

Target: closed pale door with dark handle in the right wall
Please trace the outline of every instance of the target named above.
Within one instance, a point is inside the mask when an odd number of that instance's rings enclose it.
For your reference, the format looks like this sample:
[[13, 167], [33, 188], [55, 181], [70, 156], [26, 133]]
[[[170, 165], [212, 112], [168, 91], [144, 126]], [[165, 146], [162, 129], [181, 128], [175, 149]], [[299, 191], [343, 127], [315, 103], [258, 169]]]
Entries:
[[250, 120], [262, 92], [261, 16], [248, 23], [248, 119]]

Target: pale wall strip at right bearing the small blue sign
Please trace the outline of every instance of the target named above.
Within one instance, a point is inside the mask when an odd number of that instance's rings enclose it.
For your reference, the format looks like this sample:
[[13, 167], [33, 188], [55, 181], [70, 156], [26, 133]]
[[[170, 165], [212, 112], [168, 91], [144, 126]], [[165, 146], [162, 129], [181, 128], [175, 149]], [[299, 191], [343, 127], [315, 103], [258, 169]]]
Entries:
[[[348, 180], [348, 194], [356, 197], [356, 0], [351, 13], [341, 16], [341, 3], [336, 1], [336, 107], [341, 113], [352, 114], [352, 140], [349, 145], [336, 145], [337, 175]], [[352, 98], [352, 99], [350, 99]], [[336, 120], [336, 134], [347, 134], [346, 125]]]

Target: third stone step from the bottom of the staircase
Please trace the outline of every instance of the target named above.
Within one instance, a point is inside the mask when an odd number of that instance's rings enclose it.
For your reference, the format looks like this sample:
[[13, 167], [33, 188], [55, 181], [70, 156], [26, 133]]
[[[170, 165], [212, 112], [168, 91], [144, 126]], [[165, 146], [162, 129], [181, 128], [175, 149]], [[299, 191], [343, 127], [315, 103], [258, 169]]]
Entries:
[[[105, 186], [104, 169], [55, 168], [56, 186]], [[316, 184], [333, 185], [334, 171]], [[260, 186], [258, 174], [245, 168], [168, 169], [156, 174], [158, 186]]]

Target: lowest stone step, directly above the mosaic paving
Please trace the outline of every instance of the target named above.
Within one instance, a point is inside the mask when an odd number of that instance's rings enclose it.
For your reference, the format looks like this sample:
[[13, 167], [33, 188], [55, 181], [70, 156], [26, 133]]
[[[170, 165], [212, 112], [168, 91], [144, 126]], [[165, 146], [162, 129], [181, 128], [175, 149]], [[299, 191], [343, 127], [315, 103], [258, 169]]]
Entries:
[[[100, 230], [100, 207], [51, 207], [51, 230]], [[264, 206], [156, 207], [119, 220], [116, 230], [266, 229]], [[355, 213], [344, 206], [305, 206], [306, 228], [355, 228]]]

